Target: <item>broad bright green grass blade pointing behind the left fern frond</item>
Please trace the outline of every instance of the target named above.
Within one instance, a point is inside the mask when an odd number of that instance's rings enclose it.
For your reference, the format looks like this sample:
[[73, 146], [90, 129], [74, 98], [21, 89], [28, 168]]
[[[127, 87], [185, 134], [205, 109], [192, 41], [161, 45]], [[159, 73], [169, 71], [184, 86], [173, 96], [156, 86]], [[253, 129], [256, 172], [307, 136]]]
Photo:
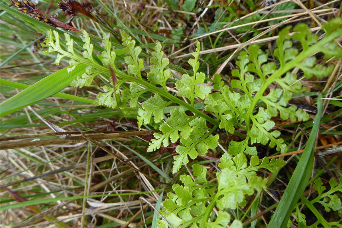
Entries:
[[56, 94], [69, 86], [71, 81], [77, 76], [82, 75], [86, 70], [86, 67], [87, 66], [84, 64], [79, 64], [69, 74], [67, 68], [64, 68], [44, 77], [42, 80], [2, 102], [0, 104], [0, 117]]

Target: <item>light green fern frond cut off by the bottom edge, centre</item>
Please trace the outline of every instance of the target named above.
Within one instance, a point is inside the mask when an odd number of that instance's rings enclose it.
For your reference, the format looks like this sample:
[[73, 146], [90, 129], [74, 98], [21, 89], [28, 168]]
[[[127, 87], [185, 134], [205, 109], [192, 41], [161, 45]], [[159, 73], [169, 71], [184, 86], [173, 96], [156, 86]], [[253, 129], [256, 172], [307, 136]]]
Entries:
[[[201, 165], [193, 166], [195, 180], [189, 175], [181, 175], [183, 185], [174, 184], [174, 193], [168, 194], [163, 202], [162, 215], [171, 227], [227, 227], [231, 215], [226, 210], [234, 210], [245, 206], [246, 195], [266, 188], [267, 179], [257, 176], [259, 169], [271, 172], [279, 170], [285, 163], [283, 160], [269, 160], [265, 157], [261, 162], [258, 156], [251, 157], [247, 166], [244, 154], [238, 154], [233, 159], [224, 153], [216, 173], [217, 181], [207, 180], [207, 169]], [[219, 211], [213, 212], [214, 207]], [[209, 222], [209, 217], [213, 222]], [[216, 217], [216, 219], [213, 219]], [[167, 227], [165, 221], [159, 222], [159, 227]], [[234, 220], [230, 227], [242, 227], [239, 220]]]

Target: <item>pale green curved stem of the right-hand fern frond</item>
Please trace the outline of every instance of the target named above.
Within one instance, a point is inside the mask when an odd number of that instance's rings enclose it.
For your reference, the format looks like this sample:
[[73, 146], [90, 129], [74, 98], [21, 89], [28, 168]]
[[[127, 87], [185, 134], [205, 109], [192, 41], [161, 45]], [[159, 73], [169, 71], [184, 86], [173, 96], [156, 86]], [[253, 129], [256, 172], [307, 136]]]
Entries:
[[249, 109], [246, 113], [246, 128], [247, 131], [251, 129], [251, 116], [253, 115], [253, 110], [255, 106], [257, 105], [260, 98], [263, 96], [264, 92], [268, 88], [269, 85], [271, 85], [273, 82], [275, 82], [281, 75], [285, 74], [292, 68], [296, 67], [299, 63], [304, 61], [305, 58], [310, 56], [312, 53], [318, 52], [321, 47], [326, 45], [327, 43], [333, 41], [334, 39], [338, 38], [341, 35], [341, 29], [332, 32], [327, 37], [321, 39], [316, 44], [312, 45], [311, 47], [307, 48], [305, 51], [301, 52], [297, 57], [292, 59], [291, 61], [287, 62], [286, 64], [282, 65], [276, 72], [274, 72], [268, 79], [266, 79], [265, 83], [260, 87], [257, 94], [255, 94]]

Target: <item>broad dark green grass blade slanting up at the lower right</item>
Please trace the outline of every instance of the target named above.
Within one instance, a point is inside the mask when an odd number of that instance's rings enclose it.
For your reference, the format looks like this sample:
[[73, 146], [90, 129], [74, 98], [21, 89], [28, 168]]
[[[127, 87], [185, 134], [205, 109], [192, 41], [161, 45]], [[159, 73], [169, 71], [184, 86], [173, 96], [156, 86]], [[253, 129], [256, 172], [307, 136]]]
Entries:
[[307, 183], [310, 179], [310, 175], [312, 172], [312, 167], [314, 164], [314, 153], [313, 149], [315, 146], [316, 136], [319, 129], [319, 123], [322, 115], [322, 104], [323, 104], [323, 95], [318, 95], [317, 100], [317, 114], [314, 120], [314, 125], [312, 127], [312, 131], [310, 137], [307, 141], [307, 144], [304, 148], [304, 152], [295, 168], [293, 175], [287, 188], [284, 192], [284, 195], [281, 197], [279, 204], [277, 206], [276, 211], [274, 212], [271, 221], [269, 222], [267, 228], [285, 228], [290, 215], [294, 209], [294, 206], [297, 204], [299, 198], [303, 194]]

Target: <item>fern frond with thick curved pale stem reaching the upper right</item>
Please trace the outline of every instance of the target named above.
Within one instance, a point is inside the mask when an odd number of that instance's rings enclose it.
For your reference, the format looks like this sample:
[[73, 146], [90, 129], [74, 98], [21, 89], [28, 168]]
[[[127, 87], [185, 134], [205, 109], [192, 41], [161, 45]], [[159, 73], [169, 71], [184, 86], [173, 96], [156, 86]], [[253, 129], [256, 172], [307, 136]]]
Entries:
[[[279, 59], [279, 66], [275, 62], [267, 62], [268, 54], [264, 53], [257, 45], [249, 46], [249, 54], [241, 52], [236, 62], [239, 70], [232, 71], [232, 76], [239, 80], [233, 79], [231, 85], [232, 88], [242, 90], [244, 92], [242, 96], [230, 91], [229, 87], [221, 81], [221, 77], [215, 75], [216, 85], [214, 88], [220, 92], [216, 92], [207, 98], [206, 110], [219, 111], [220, 109], [213, 107], [223, 104], [220, 105], [221, 112], [216, 113], [218, 116], [221, 115], [221, 125], [225, 126], [228, 132], [233, 133], [232, 126], [235, 122], [247, 131], [244, 141], [231, 141], [229, 153], [232, 155], [241, 152], [256, 155], [257, 150], [248, 145], [249, 140], [251, 144], [261, 143], [265, 145], [269, 142], [270, 147], [276, 146], [277, 151], [285, 153], [286, 144], [284, 140], [278, 138], [280, 132], [278, 130], [270, 132], [275, 126], [271, 118], [278, 116], [279, 112], [280, 118], [284, 120], [290, 118], [291, 121], [305, 121], [308, 119], [308, 114], [297, 109], [295, 105], [287, 107], [292, 94], [302, 92], [304, 89], [301, 83], [297, 81], [297, 75], [291, 73], [290, 70], [298, 67], [303, 71], [305, 77], [312, 77], [315, 72], [316, 77], [321, 78], [331, 73], [333, 65], [314, 65], [316, 58], [308, 56], [317, 52], [324, 53], [327, 58], [341, 55], [341, 48], [336, 43], [331, 42], [332, 39], [329, 39], [328, 46], [325, 46], [326, 43], [323, 40], [317, 42], [318, 36], [311, 34], [306, 24], [299, 24], [293, 29], [300, 31], [292, 37], [302, 44], [303, 49], [299, 54], [299, 50], [292, 47], [288, 35], [290, 28], [291, 26], [288, 26], [281, 30], [276, 41], [277, 48], [274, 51], [274, 56]], [[328, 37], [325, 39], [328, 40]], [[255, 73], [255, 75], [251, 73]], [[274, 85], [274, 88], [271, 88], [265, 95], [266, 89], [271, 85]], [[259, 100], [265, 104], [267, 109], [259, 107], [258, 112], [254, 114]], [[225, 118], [226, 115], [234, 116], [235, 121], [229, 123], [229, 120]]]

